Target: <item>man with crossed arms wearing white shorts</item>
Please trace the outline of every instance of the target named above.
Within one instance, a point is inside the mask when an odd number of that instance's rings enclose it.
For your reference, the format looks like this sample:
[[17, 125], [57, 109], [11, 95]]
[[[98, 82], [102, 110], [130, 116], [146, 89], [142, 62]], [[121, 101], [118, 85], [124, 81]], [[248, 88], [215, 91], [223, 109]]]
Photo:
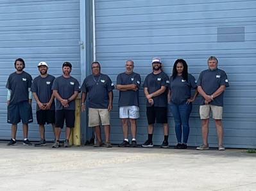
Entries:
[[134, 63], [132, 60], [126, 61], [126, 71], [117, 75], [117, 89], [119, 90], [119, 118], [122, 119], [124, 141], [119, 147], [130, 146], [128, 139], [128, 121], [130, 121], [132, 132], [132, 147], [137, 146], [136, 122], [139, 118], [139, 87], [141, 76], [133, 72]]

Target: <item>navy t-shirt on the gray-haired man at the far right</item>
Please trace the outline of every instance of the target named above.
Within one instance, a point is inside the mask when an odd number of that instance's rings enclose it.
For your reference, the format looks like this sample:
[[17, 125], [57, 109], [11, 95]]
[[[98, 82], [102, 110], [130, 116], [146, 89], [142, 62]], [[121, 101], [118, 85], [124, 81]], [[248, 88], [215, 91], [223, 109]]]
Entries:
[[[207, 95], [212, 95], [220, 86], [229, 86], [228, 77], [226, 76], [226, 72], [218, 68], [216, 70], [203, 70], [198, 78], [198, 86], [201, 86]], [[223, 106], [223, 95], [224, 92], [214, 98], [210, 104]], [[203, 96], [200, 96], [200, 105], [204, 104], [205, 99]]]

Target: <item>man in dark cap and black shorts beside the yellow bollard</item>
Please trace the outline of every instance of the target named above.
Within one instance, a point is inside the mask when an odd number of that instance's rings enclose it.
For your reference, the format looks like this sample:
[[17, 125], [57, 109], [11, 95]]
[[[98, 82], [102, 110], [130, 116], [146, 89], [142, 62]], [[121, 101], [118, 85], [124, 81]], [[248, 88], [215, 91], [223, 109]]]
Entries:
[[74, 111], [75, 99], [78, 96], [79, 83], [70, 75], [72, 65], [69, 62], [64, 62], [62, 65], [63, 75], [57, 77], [53, 82], [53, 95], [56, 98], [56, 112], [55, 112], [55, 137], [56, 141], [53, 148], [60, 147], [60, 134], [66, 123], [66, 139], [64, 147], [69, 147], [69, 137], [71, 135], [71, 128], [74, 128]]

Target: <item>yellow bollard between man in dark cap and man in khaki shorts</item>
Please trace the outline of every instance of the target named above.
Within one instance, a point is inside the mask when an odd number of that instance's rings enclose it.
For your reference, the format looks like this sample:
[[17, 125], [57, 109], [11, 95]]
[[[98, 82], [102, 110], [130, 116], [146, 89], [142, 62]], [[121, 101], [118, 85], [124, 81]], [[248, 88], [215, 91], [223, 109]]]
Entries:
[[75, 111], [75, 120], [74, 120], [74, 128], [73, 128], [74, 146], [81, 146], [80, 120], [81, 120], [81, 103], [80, 103], [80, 98], [76, 98], [76, 111]]

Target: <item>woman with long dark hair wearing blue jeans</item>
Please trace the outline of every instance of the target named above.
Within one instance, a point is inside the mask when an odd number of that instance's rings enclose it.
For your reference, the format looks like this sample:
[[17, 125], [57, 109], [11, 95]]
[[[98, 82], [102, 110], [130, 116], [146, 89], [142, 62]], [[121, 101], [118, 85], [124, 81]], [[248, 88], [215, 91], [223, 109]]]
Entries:
[[[189, 116], [198, 91], [191, 97], [191, 89], [196, 89], [196, 79], [188, 73], [187, 63], [177, 59], [173, 65], [173, 74], [170, 77], [168, 100], [175, 119], [175, 133], [178, 144], [176, 149], [186, 149], [189, 138]], [[183, 135], [183, 141], [182, 141]]]

